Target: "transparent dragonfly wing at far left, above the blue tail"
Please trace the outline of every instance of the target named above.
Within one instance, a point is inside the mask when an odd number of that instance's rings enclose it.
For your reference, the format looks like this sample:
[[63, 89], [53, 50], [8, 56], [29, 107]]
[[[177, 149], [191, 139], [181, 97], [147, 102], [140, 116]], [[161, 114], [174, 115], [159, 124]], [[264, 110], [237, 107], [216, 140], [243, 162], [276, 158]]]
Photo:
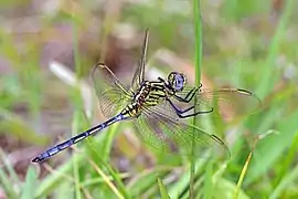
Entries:
[[94, 66], [92, 78], [104, 116], [115, 116], [131, 101], [127, 86], [105, 64]]

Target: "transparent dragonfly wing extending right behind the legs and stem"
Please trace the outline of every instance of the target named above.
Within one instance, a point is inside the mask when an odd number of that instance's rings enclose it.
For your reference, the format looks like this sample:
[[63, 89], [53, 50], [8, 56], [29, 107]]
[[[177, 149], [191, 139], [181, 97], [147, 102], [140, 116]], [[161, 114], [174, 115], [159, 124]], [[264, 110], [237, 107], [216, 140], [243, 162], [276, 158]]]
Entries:
[[[192, 88], [179, 92], [179, 96], [185, 97]], [[195, 106], [195, 111], [209, 111], [212, 114], [226, 118], [242, 116], [257, 111], [262, 103], [259, 98], [246, 90], [198, 90], [190, 103], [180, 103], [181, 106]], [[190, 112], [191, 113], [191, 112]]]

